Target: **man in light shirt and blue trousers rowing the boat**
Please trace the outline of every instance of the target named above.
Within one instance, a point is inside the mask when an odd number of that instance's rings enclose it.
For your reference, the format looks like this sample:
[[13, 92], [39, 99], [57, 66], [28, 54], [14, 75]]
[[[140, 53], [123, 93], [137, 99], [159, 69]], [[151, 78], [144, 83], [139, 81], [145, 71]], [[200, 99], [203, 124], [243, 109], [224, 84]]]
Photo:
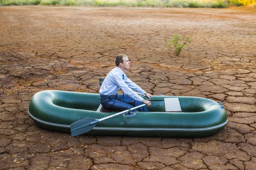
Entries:
[[[125, 111], [143, 103], [150, 106], [150, 101], [143, 99], [134, 91], [145, 94], [148, 99], [151, 99], [152, 95], [142, 90], [138, 85], [128, 79], [124, 73], [130, 68], [131, 62], [128, 57], [120, 54], [116, 56], [115, 62], [116, 68], [108, 73], [99, 90], [102, 106], [115, 111]], [[117, 91], [120, 88], [125, 93], [124, 96], [123, 94], [117, 95]], [[145, 106], [134, 111], [149, 112]]]

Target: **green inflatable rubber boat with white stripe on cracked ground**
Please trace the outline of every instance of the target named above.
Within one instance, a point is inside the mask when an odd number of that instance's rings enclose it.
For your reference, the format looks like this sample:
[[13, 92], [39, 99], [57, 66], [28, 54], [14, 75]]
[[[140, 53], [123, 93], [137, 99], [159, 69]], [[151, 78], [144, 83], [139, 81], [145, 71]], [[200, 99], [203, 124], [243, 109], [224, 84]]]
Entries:
[[[178, 98], [181, 112], [166, 112], [164, 98]], [[203, 137], [220, 132], [227, 124], [224, 106], [200, 97], [153, 96], [151, 112], [135, 112], [132, 117], [115, 116], [118, 112], [102, 108], [100, 101], [99, 94], [40, 91], [32, 97], [28, 112], [39, 127], [64, 133], [70, 133], [70, 125], [79, 120], [113, 116], [93, 125], [85, 133], [90, 135]]]

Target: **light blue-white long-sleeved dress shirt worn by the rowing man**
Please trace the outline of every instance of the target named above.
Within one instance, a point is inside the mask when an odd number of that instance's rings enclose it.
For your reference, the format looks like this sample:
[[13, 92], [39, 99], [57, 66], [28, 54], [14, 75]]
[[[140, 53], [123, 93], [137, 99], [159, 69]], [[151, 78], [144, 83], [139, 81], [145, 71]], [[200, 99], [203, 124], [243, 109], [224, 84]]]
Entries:
[[[122, 75], [124, 74], [124, 79]], [[140, 94], [145, 94], [145, 91], [142, 90], [138, 85], [128, 79], [125, 73], [121, 68], [116, 67], [111, 70], [107, 77], [105, 78], [102, 86], [100, 87], [99, 94], [100, 95], [116, 95], [117, 91], [121, 88], [121, 90], [130, 96], [131, 98], [142, 102], [143, 98], [139, 96], [134, 91], [139, 92]]]

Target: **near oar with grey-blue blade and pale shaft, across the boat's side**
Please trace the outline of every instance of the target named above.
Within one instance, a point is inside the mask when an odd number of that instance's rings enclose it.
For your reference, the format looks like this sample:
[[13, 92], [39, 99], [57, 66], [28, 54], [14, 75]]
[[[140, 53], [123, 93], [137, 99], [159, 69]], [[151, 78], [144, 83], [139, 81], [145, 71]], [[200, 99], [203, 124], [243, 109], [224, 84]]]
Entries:
[[77, 135], [81, 135], [83, 133], [87, 133], [89, 132], [90, 130], [93, 129], [93, 127], [99, 123], [99, 122], [102, 122], [103, 120], [106, 120], [106, 119], [110, 119], [111, 117], [114, 117], [114, 116], [117, 116], [117, 115], [120, 115], [120, 114], [123, 114], [123, 113], [126, 113], [126, 112], [129, 112], [129, 111], [133, 111], [137, 108], [140, 108], [140, 107], [143, 107], [145, 106], [146, 104], [143, 104], [143, 105], [139, 105], [139, 106], [136, 106], [134, 108], [131, 108], [131, 109], [127, 109], [125, 111], [122, 111], [122, 112], [119, 112], [119, 113], [116, 113], [116, 114], [113, 114], [113, 115], [110, 115], [110, 116], [107, 116], [107, 117], [104, 117], [102, 119], [93, 119], [93, 118], [85, 118], [85, 119], [81, 119], [77, 122], [74, 122], [70, 125], [70, 130], [71, 130], [71, 136], [77, 136]]

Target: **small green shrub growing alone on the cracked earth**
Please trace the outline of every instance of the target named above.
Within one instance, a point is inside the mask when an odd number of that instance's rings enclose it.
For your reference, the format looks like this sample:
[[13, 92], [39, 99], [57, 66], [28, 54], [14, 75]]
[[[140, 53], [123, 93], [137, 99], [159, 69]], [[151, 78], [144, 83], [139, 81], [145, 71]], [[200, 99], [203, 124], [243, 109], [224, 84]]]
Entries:
[[191, 37], [183, 36], [182, 40], [184, 42], [179, 43], [180, 35], [172, 34], [172, 36], [173, 36], [172, 40], [168, 40], [167, 38], [165, 38], [164, 40], [168, 44], [167, 45], [168, 50], [172, 50], [172, 48], [175, 48], [176, 56], [180, 55], [180, 52], [185, 48], [186, 44], [192, 42], [193, 40]]

